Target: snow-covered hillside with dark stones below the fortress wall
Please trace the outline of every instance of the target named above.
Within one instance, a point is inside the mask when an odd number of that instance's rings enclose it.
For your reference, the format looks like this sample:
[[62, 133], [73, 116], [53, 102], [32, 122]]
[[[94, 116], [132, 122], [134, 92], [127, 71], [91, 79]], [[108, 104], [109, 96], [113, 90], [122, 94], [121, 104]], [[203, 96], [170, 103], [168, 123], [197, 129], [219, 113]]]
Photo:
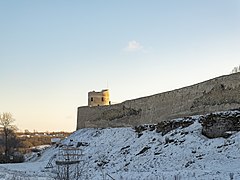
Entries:
[[[218, 114], [233, 113], [240, 114]], [[240, 133], [209, 139], [202, 135], [202, 117], [190, 119], [192, 125], [164, 135], [152, 128], [142, 135], [134, 128], [81, 129], [62, 144], [80, 145], [80, 179], [240, 179]], [[2, 164], [0, 179], [54, 179], [55, 162], [53, 169], [44, 167], [57, 153], [51, 147], [34, 161]]]

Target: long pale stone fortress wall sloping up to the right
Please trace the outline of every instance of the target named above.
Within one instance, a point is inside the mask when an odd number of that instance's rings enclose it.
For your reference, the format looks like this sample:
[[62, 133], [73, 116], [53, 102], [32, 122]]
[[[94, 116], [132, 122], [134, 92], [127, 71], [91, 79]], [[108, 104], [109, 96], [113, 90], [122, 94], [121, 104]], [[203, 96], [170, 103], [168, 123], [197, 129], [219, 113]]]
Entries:
[[240, 107], [240, 73], [120, 104], [79, 107], [77, 129], [129, 127]]

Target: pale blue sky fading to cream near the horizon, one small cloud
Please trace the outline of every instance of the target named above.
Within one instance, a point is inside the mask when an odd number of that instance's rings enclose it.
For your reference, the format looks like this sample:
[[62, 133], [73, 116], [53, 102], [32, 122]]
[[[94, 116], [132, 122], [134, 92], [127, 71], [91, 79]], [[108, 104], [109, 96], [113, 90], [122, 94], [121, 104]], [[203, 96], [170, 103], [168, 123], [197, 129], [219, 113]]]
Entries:
[[229, 74], [240, 0], [0, 0], [0, 113], [73, 131], [88, 91], [111, 101]]

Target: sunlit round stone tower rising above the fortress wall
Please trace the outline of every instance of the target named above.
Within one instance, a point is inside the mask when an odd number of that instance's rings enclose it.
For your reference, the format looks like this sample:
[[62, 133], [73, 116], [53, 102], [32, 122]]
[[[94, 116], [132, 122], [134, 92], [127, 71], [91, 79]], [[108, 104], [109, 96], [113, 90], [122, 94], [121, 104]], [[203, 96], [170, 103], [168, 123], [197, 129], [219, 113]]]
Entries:
[[106, 106], [110, 104], [108, 89], [104, 89], [101, 92], [91, 91], [88, 93], [88, 106]]

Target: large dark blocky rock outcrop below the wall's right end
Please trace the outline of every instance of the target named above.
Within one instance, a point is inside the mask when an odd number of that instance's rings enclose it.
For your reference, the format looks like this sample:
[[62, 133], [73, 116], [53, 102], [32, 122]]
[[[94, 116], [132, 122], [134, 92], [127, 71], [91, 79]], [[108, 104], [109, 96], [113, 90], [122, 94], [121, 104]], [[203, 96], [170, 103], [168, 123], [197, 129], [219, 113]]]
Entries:
[[209, 114], [201, 120], [202, 134], [208, 138], [231, 136], [232, 131], [240, 131], [240, 111], [225, 114]]

